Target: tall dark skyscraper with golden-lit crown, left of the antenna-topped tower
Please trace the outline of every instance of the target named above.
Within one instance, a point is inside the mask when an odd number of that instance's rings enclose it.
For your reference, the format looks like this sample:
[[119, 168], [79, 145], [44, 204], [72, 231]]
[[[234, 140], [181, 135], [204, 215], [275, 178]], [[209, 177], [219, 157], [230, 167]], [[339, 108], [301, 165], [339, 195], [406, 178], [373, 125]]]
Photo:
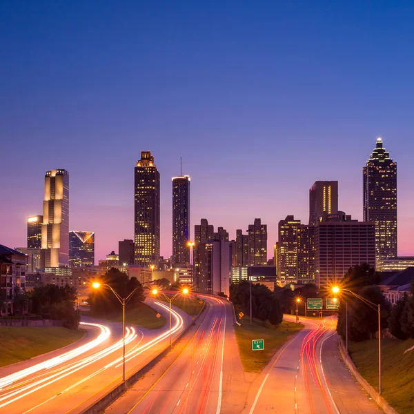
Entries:
[[158, 268], [159, 172], [150, 151], [141, 151], [135, 167], [135, 264]]

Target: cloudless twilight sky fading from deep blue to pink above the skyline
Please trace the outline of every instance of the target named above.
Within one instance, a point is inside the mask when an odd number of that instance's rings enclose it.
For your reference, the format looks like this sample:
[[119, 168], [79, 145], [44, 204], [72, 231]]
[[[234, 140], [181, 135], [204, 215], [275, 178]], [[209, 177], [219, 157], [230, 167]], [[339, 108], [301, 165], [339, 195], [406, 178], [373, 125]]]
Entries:
[[133, 238], [134, 166], [191, 176], [191, 222], [230, 237], [255, 217], [308, 221], [308, 189], [339, 181], [362, 219], [362, 166], [382, 136], [398, 164], [400, 255], [414, 255], [412, 1], [0, 2], [0, 244], [26, 246], [46, 170], [70, 172], [70, 228], [95, 260]]

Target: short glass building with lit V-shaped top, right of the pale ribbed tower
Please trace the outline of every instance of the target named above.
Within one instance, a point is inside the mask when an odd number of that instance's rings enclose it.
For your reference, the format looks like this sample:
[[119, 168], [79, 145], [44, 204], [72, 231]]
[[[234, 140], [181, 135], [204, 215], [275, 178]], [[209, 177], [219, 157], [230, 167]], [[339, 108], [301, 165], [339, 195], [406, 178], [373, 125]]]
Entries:
[[72, 230], [69, 232], [70, 266], [94, 266], [95, 233], [93, 231]]

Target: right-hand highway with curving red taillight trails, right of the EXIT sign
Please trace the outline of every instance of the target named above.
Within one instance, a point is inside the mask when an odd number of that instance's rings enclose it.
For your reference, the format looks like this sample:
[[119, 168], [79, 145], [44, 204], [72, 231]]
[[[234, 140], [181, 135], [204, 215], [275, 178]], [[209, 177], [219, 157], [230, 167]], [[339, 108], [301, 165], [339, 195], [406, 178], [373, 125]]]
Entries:
[[[289, 315], [284, 319], [295, 321]], [[301, 322], [304, 329], [282, 346], [253, 382], [243, 413], [380, 413], [339, 358], [336, 319]]]

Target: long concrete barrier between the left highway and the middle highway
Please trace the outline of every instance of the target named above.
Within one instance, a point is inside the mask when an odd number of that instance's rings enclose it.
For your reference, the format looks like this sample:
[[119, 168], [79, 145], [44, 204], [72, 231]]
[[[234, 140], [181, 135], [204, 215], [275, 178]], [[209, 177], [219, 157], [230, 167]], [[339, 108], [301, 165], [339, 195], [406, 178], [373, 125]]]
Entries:
[[[197, 319], [199, 319], [199, 317], [201, 317], [201, 315], [205, 314], [206, 308], [208, 306], [209, 305], [206, 304], [206, 302], [204, 302], [204, 306], [201, 308], [200, 313], [195, 317], [194, 322], [197, 321]], [[183, 337], [186, 334], [188, 329], [191, 328], [191, 326], [193, 326], [193, 324], [189, 324], [187, 326], [187, 328], [185, 328], [184, 331], [182, 331], [179, 334], [179, 336], [174, 339], [172, 344], [174, 345], [176, 342], [178, 342], [179, 339], [181, 339], [181, 337]], [[110, 406], [110, 404], [112, 404], [112, 402], [117, 400], [117, 398], [119, 398], [125, 391], [127, 391], [128, 388], [130, 388], [132, 385], [134, 385], [135, 382], [137, 382], [144, 374], [148, 373], [148, 371], [150, 371], [156, 364], [158, 364], [158, 362], [161, 361], [161, 359], [163, 359], [169, 352], [170, 352], [170, 346], [167, 346], [164, 349], [164, 351], [161, 351], [158, 355], [153, 357], [150, 360], [150, 362], [148, 362], [148, 364], [146, 364], [145, 366], [140, 368], [137, 372], [133, 373], [128, 378], [126, 378], [125, 382], [122, 382], [121, 384], [119, 384], [119, 385], [115, 386], [114, 388], [112, 388], [112, 390], [110, 390], [108, 393], [106, 393], [106, 395], [103, 395], [103, 397], [100, 398], [97, 402], [94, 402], [94, 403], [90, 404], [90, 406], [88, 406], [88, 408], [86, 408], [84, 411], [82, 411], [82, 414], [99, 414], [99, 413], [101, 413], [103, 410], [105, 410], [105, 408]]]

